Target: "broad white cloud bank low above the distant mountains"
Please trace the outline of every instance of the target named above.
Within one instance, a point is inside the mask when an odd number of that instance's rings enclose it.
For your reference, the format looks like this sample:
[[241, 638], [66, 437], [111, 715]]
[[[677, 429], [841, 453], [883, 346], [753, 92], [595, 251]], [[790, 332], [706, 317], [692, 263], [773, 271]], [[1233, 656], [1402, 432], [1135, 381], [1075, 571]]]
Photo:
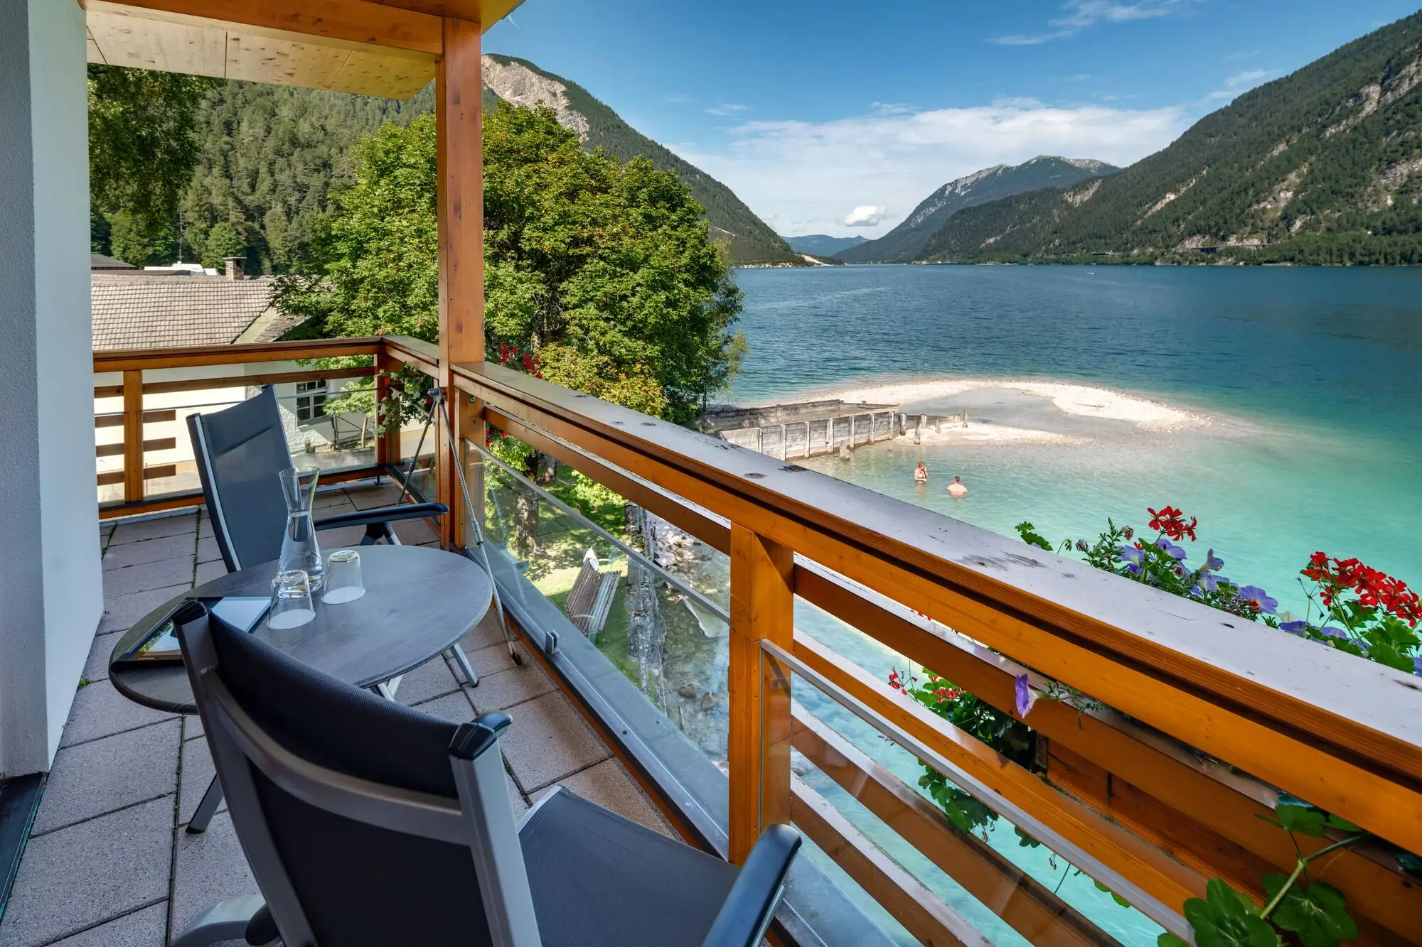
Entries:
[[782, 233], [835, 233], [845, 208], [882, 208], [879, 236], [954, 178], [1035, 155], [1128, 165], [1189, 125], [1185, 107], [1132, 111], [1004, 101], [974, 108], [870, 112], [826, 122], [757, 121], [724, 145], [673, 146], [727, 183]]

